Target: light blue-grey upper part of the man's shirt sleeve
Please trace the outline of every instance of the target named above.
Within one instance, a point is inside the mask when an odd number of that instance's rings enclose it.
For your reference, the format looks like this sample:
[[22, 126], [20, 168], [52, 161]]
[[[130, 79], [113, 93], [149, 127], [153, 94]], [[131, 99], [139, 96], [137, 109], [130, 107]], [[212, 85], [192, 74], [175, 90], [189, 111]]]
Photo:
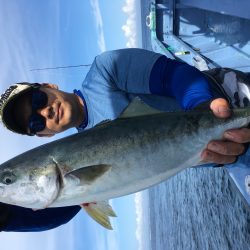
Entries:
[[136, 48], [104, 52], [95, 58], [91, 68], [91, 73], [98, 71], [102, 79], [97, 79], [97, 76], [92, 79], [127, 93], [149, 94], [150, 72], [161, 56]]

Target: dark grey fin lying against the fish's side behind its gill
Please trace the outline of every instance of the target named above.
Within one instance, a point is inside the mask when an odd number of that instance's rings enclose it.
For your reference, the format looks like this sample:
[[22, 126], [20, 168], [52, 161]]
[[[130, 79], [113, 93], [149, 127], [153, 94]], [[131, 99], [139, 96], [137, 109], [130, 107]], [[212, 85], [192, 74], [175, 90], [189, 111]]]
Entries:
[[68, 172], [64, 177], [67, 178], [70, 175], [78, 178], [80, 182], [93, 183], [93, 181], [103, 176], [110, 168], [111, 166], [107, 164], [92, 165]]

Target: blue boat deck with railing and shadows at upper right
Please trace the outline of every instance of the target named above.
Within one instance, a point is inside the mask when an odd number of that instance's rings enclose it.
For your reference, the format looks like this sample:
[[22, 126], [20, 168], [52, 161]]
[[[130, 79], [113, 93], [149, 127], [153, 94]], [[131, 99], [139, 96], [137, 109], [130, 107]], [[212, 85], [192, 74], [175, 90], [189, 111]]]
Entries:
[[152, 49], [191, 65], [201, 56], [209, 68], [250, 72], [249, 9], [245, 0], [151, 1], [145, 22]]

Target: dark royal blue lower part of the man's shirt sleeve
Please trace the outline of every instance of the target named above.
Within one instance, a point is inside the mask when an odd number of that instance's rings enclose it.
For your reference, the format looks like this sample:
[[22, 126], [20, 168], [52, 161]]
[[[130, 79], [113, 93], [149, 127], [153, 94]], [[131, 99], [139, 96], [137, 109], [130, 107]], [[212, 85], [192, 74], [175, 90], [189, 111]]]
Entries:
[[173, 97], [184, 110], [214, 98], [207, 78], [195, 67], [160, 57], [151, 71], [150, 92]]

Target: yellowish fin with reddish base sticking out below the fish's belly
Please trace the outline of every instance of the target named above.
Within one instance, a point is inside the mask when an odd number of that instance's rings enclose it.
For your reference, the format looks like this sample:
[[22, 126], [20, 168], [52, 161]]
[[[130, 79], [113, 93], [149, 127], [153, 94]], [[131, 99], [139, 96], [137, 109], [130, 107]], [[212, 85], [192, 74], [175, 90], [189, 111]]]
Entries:
[[112, 207], [109, 205], [108, 201], [83, 203], [80, 206], [84, 208], [84, 210], [96, 222], [109, 230], [113, 230], [109, 217], [116, 217], [116, 214], [113, 211]]

